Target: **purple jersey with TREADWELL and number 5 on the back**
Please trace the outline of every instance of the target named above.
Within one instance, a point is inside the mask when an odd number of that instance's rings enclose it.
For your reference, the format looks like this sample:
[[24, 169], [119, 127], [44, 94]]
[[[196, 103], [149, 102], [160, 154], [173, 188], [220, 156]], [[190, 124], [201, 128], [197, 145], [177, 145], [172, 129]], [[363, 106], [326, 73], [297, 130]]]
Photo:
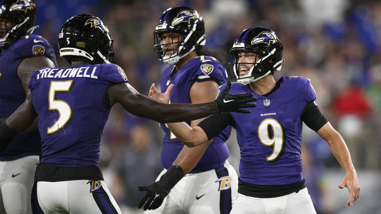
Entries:
[[40, 117], [41, 163], [64, 167], [97, 166], [110, 109], [108, 86], [128, 82], [115, 64], [74, 65], [36, 70], [29, 82]]

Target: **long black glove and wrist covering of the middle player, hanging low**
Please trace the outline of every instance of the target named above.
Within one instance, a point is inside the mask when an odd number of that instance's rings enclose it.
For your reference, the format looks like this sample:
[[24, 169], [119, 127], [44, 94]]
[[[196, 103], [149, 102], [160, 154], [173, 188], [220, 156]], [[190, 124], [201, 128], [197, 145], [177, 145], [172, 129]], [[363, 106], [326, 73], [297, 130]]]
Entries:
[[146, 187], [138, 187], [139, 191], [147, 191], [146, 195], [144, 195], [140, 201], [138, 208], [142, 208], [144, 203], [144, 210], [160, 207], [165, 196], [168, 195], [174, 185], [176, 185], [182, 177], [184, 177], [182, 169], [179, 166], [172, 165], [157, 182], [151, 183]]

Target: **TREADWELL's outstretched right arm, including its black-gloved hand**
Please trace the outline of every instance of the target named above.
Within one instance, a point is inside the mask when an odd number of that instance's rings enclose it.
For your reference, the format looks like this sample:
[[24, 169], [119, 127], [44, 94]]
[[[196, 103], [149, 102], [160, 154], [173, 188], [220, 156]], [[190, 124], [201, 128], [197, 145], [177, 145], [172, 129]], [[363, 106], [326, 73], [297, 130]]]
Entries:
[[[253, 94], [229, 94], [228, 89], [221, 93], [216, 101], [203, 104], [163, 104], [149, 97], [139, 94], [130, 84], [119, 83], [111, 86], [107, 93], [110, 105], [119, 102], [124, 109], [133, 115], [158, 121], [160, 123], [173, 123], [180, 121], [197, 120], [219, 112], [250, 112], [240, 108], [253, 107], [255, 101]], [[223, 99], [230, 102], [223, 102]]]

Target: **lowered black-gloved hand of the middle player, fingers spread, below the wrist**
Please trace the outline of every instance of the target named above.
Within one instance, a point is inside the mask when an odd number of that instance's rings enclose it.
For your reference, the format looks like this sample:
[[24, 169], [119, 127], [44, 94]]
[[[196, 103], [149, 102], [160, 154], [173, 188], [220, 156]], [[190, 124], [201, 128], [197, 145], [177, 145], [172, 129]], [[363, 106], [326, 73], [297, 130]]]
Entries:
[[[147, 209], [156, 209], [160, 207], [163, 203], [163, 200], [165, 196], [168, 195], [170, 192], [171, 188], [165, 186], [163, 182], [157, 181], [152, 184], [149, 184], [146, 187], [138, 187], [139, 191], [147, 191], [146, 195], [142, 198], [142, 200], [139, 203], [138, 208], [142, 208], [144, 205], [144, 210]], [[158, 195], [156, 198], [155, 196]]]

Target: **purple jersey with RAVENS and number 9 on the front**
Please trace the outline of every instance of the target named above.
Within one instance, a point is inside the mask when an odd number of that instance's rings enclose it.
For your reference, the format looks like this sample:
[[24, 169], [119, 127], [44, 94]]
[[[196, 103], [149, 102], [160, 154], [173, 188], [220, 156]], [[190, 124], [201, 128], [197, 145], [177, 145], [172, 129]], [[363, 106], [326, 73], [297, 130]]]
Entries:
[[301, 115], [307, 102], [316, 99], [316, 94], [307, 78], [282, 78], [280, 87], [267, 97], [239, 83], [232, 84], [229, 91], [253, 93], [257, 98], [257, 106], [248, 109], [250, 114], [231, 113], [241, 152], [240, 179], [244, 182], [284, 185], [303, 180]]

